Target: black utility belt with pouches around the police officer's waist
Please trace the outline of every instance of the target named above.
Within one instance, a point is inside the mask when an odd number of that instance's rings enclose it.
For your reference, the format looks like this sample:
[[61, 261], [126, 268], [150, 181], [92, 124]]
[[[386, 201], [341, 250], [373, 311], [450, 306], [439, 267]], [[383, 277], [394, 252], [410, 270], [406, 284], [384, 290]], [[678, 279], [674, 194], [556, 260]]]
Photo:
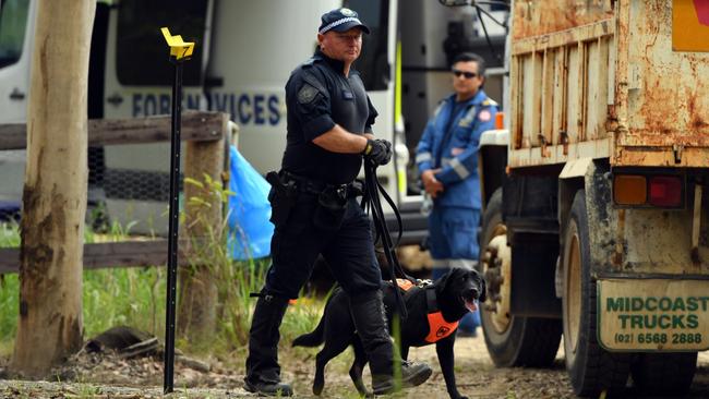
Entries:
[[357, 181], [348, 184], [327, 184], [285, 170], [268, 172], [266, 180], [273, 186], [268, 201], [272, 207], [271, 221], [276, 228], [288, 222], [299, 193], [308, 193], [317, 198], [312, 218], [314, 226], [320, 230], [335, 231], [343, 223], [348, 200], [363, 194], [362, 183]]

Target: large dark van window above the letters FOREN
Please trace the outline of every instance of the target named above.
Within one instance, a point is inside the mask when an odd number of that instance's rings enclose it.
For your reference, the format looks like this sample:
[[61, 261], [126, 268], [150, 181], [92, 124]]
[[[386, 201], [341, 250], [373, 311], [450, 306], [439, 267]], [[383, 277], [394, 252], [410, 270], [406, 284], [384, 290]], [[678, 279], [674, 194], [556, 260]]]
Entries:
[[182, 84], [188, 108], [206, 109], [202, 80], [207, 61], [209, 0], [121, 0], [109, 21], [106, 55], [106, 118], [170, 113], [173, 66], [160, 27], [195, 41], [184, 63]]

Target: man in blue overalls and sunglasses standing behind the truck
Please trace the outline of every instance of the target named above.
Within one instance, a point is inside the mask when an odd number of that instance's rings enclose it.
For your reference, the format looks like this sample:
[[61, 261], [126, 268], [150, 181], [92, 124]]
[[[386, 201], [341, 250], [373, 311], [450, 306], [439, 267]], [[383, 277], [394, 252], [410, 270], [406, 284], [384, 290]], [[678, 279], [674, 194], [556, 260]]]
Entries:
[[[455, 93], [443, 99], [419, 142], [416, 164], [426, 195], [433, 198], [429, 215], [429, 245], [433, 279], [450, 267], [472, 268], [478, 259], [480, 223], [480, 135], [494, 128], [497, 104], [482, 90], [485, 64], [471, 52], [453, 60]], [[474, 335], [476, 312], [460, 321], [462, 334]]]

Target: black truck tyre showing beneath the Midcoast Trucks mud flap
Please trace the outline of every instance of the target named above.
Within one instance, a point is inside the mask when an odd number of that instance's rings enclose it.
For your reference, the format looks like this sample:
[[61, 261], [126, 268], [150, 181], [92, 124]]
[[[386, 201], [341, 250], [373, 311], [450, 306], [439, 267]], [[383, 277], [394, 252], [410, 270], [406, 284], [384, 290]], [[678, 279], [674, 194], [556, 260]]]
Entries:
[[697, 371], [697, 352], [640, 353], [630, 365], [637, 388], [649, 394], [683, 395]]

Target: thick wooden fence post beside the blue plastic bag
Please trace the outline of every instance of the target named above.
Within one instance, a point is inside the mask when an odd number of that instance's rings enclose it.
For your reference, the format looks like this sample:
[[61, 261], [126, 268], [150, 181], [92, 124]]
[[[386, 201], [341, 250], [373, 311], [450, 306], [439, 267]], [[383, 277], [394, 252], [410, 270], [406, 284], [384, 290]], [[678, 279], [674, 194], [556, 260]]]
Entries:
[[[225, 117], [224, 124], [228, 119]], [[216, 142], [188, 142], [184, 177], [203, 182], [205, 189], [184, 184], [185, 223], [191, 244], [190, 266], [180, 267], [180, 306], [178, 332], [193, 343], [208, 342], [216, 328], [217, 268], [223, 240], [221, 202], [204, 182], [204, 174], [221, 183], [224, 170], [224, 138]], [[220, 184], [219, 184], [220, 185]], [[205, 203], [192, 203], [200, 197]], [[199, 243], [197, 243], [199, 242]]]

